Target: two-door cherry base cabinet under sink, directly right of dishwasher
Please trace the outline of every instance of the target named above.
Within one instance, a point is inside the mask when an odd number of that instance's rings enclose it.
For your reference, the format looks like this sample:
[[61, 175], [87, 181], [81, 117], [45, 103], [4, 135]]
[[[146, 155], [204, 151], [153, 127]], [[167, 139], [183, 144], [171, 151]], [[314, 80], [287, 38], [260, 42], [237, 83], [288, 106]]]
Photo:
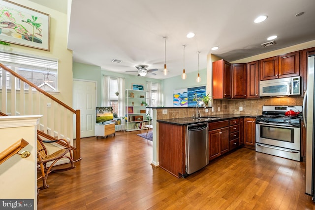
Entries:
[[209, 123], [209, 160], [229, 151], [228, 120]]

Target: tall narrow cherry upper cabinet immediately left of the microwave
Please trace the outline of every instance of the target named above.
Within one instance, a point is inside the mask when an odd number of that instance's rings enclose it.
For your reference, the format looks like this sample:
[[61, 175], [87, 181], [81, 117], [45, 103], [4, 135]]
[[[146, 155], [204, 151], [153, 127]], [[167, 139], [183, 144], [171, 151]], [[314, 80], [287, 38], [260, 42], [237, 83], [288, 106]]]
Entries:
[[247, 98], [259, 98], [258, 61], [247, 64]]

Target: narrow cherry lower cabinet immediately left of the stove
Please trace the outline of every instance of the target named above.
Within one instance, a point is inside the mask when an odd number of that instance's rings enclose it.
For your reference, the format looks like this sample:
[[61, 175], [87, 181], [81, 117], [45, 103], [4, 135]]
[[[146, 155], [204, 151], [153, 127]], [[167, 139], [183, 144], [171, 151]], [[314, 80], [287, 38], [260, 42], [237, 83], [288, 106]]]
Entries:
[[255, 148], [255, 118], [244, 118], [244, 146], [254, 149]]

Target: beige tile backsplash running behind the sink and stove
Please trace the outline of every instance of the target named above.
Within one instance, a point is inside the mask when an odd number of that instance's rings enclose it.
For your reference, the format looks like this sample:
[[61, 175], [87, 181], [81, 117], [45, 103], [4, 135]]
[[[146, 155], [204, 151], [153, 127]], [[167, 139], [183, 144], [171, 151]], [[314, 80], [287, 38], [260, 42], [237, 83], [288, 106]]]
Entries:
[[[208, 112], [204, 108], [198, 108], [202, 116], [211, 116], [216, 114], [248, 114], [261, 115], [263, 105], [302, 105], [303, 97], [289, 96], [289, 97], [263, 97], [260, 99], [214, 99], [211, 107], [208, 107]], [[243, 111], [239, 107], [243, 107]], [[219, 111], [220, 107], [220, 111]], [[187, 108], [170, 108], [167, 109], [167, 114], [162, 114], [162, 109], [157, 109], [157, 119], [172, 119], [182, 117], [192, 117], [196, 109], [192, 107]]]

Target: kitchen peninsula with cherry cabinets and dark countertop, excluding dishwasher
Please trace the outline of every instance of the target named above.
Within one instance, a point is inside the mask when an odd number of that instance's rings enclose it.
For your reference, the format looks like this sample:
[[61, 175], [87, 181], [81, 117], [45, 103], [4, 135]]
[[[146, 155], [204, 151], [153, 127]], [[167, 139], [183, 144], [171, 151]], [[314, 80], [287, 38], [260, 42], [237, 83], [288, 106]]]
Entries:
[[[196, 119], [192, 117], [177, 117], [177, 115], [183, 111], [186, 113], [185, 116], [192, 116], [193, 107], [150, 108], [153, 109], [153, 125], [156, 125], [153, 129], [152, 165], [159, 166], [176, 177], [181, 177], [185, 174], [185, 137], [187, 135], [187, 125], [199, 124], [201, 122], [208, 123], [209, 155], [210, 160], [212, 160], [242, 145], [244, 118], [254, 120], [256, 116], [242, 114], [210, 115], [210, 113], [204, 113], [204, 109], [201, 108], [203, 118]], [[161, 114], [161, 109], [164, 109], [164, 114]], [[167, 113], [169, 109], [173, 112], [169, 113], [171, 116], [168, 115], [168, 119], [162, 119], [163, 115], [166, 115], [165, 112]], [[183, 114], [181, 115], [183, 116]], [[222, 128], [220, 126], [222, 126]], [[221, 129], [224, 129], [225, 136], [220, 139], [219, 133]], [[230, 132], [229, 129], [231, 129]], [[231, 134], [231, 136], [229, 136], [229, 134]], [[223, 147], [225, 149], [221, 151]]]

